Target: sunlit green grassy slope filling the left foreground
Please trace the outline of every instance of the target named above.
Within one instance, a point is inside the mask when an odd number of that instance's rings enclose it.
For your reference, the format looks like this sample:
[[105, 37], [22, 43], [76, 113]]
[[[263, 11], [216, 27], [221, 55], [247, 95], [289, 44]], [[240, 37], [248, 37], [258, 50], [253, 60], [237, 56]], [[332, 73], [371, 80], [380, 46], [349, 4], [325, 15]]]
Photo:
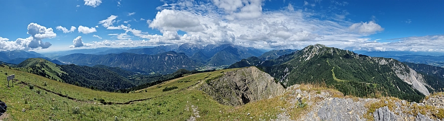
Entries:
[[[112, 93], [69, 85], [35, 74], [12, 70], [8, 66], [0, 67], [0, 78], [5, 79], [10, 74], [16, 75], [14, 87], [7, 87], [6, 81], [0, 81], [2, 91], [0, 98], [8, 105], [8, 111], [3, 116], [5, 118], [1, 120], [183, 121], [193, 117], [197, 121], [250, 120], [250, 117], [255, 117], [256, 120], [259, 120], [259, 117], [275, 119], [281, 111], [274, 107], [285, 105], [285, 101], [277, 97], [235, 108], [219, 104], [203, 91], [187, 88], [230, 70], [236, 69], [188, 75], [136, 91], [137, 93]], [[31, 85], [34, 86], [32, 90]], [[173, 86], [178, 89], [162, 91], [165, 87]], [[101, 99], [112, 104], [101, 104]], [[122, 104], [125, 102], [131, 103]], [[247, 113], [251, 115], [246, 115]]]

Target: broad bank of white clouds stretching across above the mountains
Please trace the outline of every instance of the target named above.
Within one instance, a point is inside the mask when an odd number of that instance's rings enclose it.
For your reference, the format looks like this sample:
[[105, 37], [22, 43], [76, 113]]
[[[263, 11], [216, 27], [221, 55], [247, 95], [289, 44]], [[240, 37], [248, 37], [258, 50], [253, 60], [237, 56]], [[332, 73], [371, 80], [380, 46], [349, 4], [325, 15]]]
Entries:
[[[98, 7], [102, 0], [84, 0], [87, 6]], [[292, 2], [277, 10], [264, 9], [267, 0], [173, 0], [158, 6], [154, 18], [133, 18], [138, 12], [128, 11], [119, 16], [111, 14], [97, 21], [95, 27], [71, 26], [67, 29], [55, 27], [63, 33], [90, 34], [95, 40], [83, 42], [82, 37], [74, 39], [72, 48], [78, 47], [134, 47], [169, 44], [196, 43], [235, 44], [262, 49], [300, 49], [316, 43], [341, 49], [368, 51], [444, 51], [444, 35], [413, 36], [381, 41], [371, 35], [384, 32], [374, 16], [367, 21], [348, 19], [347, 10], [337, 6], [348, 2], [332, 2], [331, 11], [315, 9], [320, 2], [304, 1], [297, 5]], [[329, 8], [330, 8], [329, 7]], [[146, 23], [144, 27], [133, 27], [130, 23]], [[100, 34], [99, 26], [108, 33]], [[69, 26], [68, 26], [69, 27]], [[96, 29], [97, 28], [97, 29]], [[158, 30], [149, 33], [139, 28]], [[98, 31], [99, 30], [99, 31]], [[77, 34], [78, 34], [77, 33]], [[0, 50], [35, 50], [51, 46], [42, 39], [56, 37], [49, 28], [31, 23], [28, 38], [12, 41], [0, 37]], [[100, 35], [100, 36], [99, 36]], [[107, 36], [108, 35], [108, 36]], [[77, 36], [77, 35], [75, 35]], [[102, 39], [103, 37], [103, 39]], [[87, 38], [87, 37], [85, 37]], [[71, 39], [69, 39], [71, 40]], [[61, 40], [68, 41], [68, 40]]]

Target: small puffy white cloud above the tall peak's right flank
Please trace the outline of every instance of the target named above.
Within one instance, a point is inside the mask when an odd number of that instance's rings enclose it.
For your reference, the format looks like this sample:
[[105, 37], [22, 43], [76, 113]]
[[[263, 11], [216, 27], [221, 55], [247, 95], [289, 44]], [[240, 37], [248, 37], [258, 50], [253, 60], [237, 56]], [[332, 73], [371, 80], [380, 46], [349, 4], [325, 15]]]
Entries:
[[384, 28], [374, 23], [374, 21], [355, 23], [351, 25], [349, 29], [362, 34], [373, 34], [375, 32], [384, 30]]

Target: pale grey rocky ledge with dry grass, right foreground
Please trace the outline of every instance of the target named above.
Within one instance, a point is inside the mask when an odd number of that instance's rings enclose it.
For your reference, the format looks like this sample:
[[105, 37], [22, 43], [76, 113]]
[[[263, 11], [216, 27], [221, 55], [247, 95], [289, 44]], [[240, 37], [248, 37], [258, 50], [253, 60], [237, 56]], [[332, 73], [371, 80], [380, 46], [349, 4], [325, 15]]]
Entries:
[[297, 118], [289, 114], [292, 108], [279, 114], [276, 121], [443, 121], [443, 94], [434, 94], [424, 103], [407, 102], [394, 97], [358, 98], [343, 96], [332, 89], [295, 85], [285, 94], [290, 104], [297, 104], [298, 96], [308, 106]]

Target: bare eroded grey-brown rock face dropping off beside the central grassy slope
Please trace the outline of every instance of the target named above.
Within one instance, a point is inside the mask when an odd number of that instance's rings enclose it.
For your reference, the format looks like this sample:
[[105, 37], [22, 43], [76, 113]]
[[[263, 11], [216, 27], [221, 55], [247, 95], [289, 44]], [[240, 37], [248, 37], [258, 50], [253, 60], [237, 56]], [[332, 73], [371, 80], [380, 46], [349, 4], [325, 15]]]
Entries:
[[220, 78], [207, 80], [200, 90], [223, 105], [238, 106], [248, 102], [272, 98], [284, 88], [269, 74], [256, 67], [225, 72]]

